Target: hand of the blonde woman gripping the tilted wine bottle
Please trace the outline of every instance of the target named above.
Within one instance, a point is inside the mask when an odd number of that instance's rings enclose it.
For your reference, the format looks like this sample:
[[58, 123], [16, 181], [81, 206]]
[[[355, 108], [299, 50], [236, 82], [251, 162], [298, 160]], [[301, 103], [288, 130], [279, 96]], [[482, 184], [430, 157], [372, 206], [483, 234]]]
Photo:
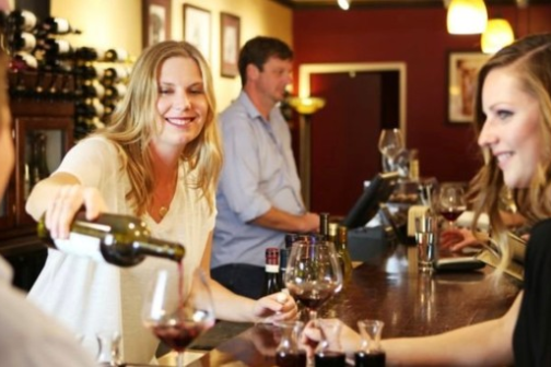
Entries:
[[77, 212], [85, 208], [86, 218], [94, 220], [107, 211], [107, 204], [96, 188], [82, 185], [61, 186], [46, 210], [46, 227], [52, 238], [68, 238]]

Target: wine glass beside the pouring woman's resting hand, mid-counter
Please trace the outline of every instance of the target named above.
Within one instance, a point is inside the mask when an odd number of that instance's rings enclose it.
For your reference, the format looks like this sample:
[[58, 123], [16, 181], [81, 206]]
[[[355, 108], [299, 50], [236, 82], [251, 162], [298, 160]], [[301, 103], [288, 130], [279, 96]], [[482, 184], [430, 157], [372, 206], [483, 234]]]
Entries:
[[331, 242], [296, 241], [291, 248], [285, 286], [295, 300], [308, 310], [310, 320], [317, 310], [342, 288], [342, 271]]

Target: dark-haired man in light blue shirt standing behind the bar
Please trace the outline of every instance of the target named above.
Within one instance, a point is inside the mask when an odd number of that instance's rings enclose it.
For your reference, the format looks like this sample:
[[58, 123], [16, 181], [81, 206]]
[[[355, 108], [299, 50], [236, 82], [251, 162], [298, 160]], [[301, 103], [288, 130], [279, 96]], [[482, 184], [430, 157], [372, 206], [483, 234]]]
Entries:
[[282, 247], [285, 233], [319, 227], [319, 216], [304, 208], [291, 132], [278, 106], [292, 82], [292, 58], [277, 38], [248, 40], [238, 61], [243, 90], [220, 116], [224, 168], [211, 275], [251, 298], [262, 295], [266, 248]]

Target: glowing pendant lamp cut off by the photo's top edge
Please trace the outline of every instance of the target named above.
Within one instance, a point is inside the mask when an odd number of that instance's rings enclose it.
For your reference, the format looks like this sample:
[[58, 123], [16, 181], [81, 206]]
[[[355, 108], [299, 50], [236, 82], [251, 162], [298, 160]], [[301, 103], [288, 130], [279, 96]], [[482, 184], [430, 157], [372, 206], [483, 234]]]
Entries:
[[488, 23], [483, 0], [452, 0], [447, 11], [449, 34], [480, 34]]

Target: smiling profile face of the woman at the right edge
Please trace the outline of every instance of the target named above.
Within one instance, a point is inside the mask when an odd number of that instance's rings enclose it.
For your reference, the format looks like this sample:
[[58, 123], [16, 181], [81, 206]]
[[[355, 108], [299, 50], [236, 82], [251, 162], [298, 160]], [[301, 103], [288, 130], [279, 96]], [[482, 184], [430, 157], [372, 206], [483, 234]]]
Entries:
[[499, 68], [484, 80], [482, 108], [486, 118], [479, 145], [497, 161], [507, 187], [526, 188], [542, 153], [538, 99], [521, 87], [513, 69]]

